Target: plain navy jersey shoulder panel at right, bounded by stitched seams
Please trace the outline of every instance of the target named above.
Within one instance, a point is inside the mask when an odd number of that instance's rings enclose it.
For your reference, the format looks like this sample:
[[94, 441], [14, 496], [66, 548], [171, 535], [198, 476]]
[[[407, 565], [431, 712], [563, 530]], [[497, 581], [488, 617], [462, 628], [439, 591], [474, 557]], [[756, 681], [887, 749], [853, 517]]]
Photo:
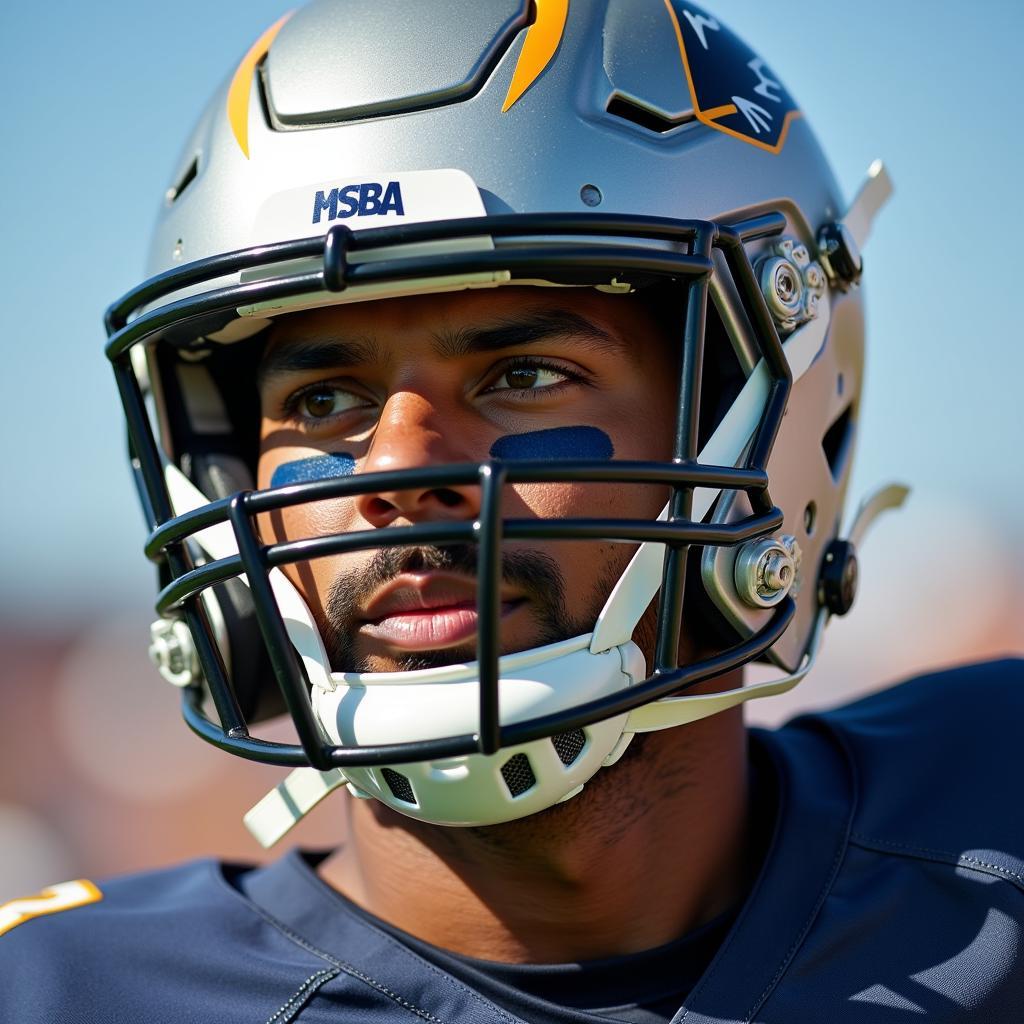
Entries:
[[1024, 887], [1024, 659], [931, 673], [797, 719], [853, 768], [854, 839], [987, 865]]

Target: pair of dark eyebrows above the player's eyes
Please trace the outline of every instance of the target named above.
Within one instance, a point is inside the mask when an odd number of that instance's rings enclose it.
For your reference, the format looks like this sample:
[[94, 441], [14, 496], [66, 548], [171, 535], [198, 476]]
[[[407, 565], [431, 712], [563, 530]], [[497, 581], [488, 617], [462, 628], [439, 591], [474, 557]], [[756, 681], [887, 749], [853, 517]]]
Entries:
[[[567, 309], [527, 312], [486, 327], [442, 331], [432, 336], [431, 343], [440, 358], [457, 359], [466, 355], [532, 345], [556, 336], [570, 337], [585, 347], [615, 355], [626, 354], [629, 350], [625, 339]], [[262, 388], [269, 379], [276, 376], [341, 370], [381, 360], [380, 345], [370, 337], [285, 341], [263, 356], [256, 382]]]

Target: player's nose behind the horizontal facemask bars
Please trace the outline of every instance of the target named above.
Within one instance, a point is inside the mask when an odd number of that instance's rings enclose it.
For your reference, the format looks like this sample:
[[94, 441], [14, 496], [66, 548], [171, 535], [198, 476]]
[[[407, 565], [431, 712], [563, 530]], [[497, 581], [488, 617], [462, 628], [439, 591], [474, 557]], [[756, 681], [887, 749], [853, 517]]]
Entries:
[[[381, 411], [360, 472], [393, 472], [472, 461], [459, 443], [463, 434], [456, 417], [445, 416], [426, 396], [411, 391], [392, 394]], [[376, 490], [360, 495], [356, 508], [374, 527], [399, 519], [414, 523], [475, 519], [480, 511], [480, 488], [467, 484]]]

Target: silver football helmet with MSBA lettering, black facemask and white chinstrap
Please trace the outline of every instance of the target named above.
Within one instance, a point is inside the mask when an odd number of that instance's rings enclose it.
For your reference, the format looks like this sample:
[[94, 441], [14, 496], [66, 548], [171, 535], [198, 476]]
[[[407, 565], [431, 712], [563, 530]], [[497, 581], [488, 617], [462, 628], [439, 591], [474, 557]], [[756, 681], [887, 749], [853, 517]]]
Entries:
[[[261, 841], [341, 784], [431, 822], [519, 818], [578, 793], [636, 732], [806, 674], [856, 581], [841, 518], [859, 247], [888, 191], [876, 165], [844, 212], [778, 77], [689, 0], [316, 0], [256, 41], [185, 144], [151, 276], [110, 308], [106, 353], [161, 579], [153, 658], [203, 738], [299, 769], [251, 814]], [[671, 296], [671, 461], [356, 467], [254, 489], [252, 353], [274, 317], [507, 285]], [[504, 488], [537, 481], [671, 499], [650, 521], [504, 518]], [[474, 521], [282, 543], [256, 526], [303, 503], [467, 485]], [[503, 655], [503, 543], [595, 538], [635, 551], [593, 628]], [[475, 546], [477, 660], [332, 665], [283, 566], [423, 545]], [[647, 665], [634, 632], [655, 598]], [[713, 623], [718, 646], [680, 664], [684, 618]], [[688, 692], [755, 658], [778, 678]], [[297, 742], [251, 731], [283, 709]]]

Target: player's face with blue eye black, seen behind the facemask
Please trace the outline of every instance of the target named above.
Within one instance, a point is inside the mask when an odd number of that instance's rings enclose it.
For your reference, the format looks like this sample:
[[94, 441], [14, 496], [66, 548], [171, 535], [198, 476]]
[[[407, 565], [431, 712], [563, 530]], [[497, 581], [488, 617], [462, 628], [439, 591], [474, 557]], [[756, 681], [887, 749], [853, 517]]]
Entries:
[[[259, 485], [513, 459], [668, 459], [674, 360], [642, 301], [496, 289], [282, 317], [260, 368]], [[660, 488], [507, 485], [513, 518], [652, 518]], [[380, 490], [263, 516], [267, 541], [473, 520], [479, 487]], [[633, 548], [508, 542], [502, 650], [593, 628]], [[475, 548], [378, 548], [288, 566], [335, 670], [475, 656]]]

